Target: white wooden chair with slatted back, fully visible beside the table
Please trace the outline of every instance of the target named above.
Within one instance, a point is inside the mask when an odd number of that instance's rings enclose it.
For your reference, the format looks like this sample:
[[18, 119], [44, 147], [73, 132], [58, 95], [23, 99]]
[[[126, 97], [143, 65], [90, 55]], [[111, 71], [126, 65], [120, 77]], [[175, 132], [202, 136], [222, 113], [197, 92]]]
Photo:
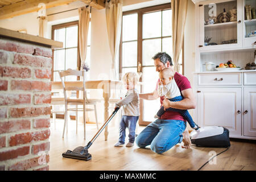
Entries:
[[[64, 128], [63, 128], [63, 137], [65, 133], [65, 127], [67, 125], [67, 120], [68, 120], [68, 111], [83, 111], [83, 120], [84, 120], [84, 139], [85, 139], [85, 123], [86, 123], [86, 118], [85, 118], [85, 111], [93, 111], [95, 113], [95, 118], [96, 118], [96, 125], [98, 129], [98, 119], [97, 119], [97, 111], [96, 111], [96, 103], [101, 101], [100, 99], [88, 99], [86, 97], [86, 89], [85, 89], [85, 71], [77, 71], [73, 69], [68, 69], [67, 71], [59, 72], [61, 83], [63, 85], [64, 89], [64, 98], [65, 98], [65, 114], [64, 114]], [[83, 81], [83, 86], [82, 87], [66, 87], [65, 82], [63, 77], [65, 76], [80, 76], [82, 77]], [[82, 91], [82, 98], [71, 98], [67, 97], [67, 91], [68, 90], [73, 90], [73, 91]], [[76, 105], [76, 108], [68, 108], [68, 105]], [[82, 105], [82, 108], [79, 108], [78, 105]], [[94, 109], [87, 109], [85, 108], [85, 105], [94, 105]], [[76, 133], [77, 133], [77, 117], [76, 117]]]

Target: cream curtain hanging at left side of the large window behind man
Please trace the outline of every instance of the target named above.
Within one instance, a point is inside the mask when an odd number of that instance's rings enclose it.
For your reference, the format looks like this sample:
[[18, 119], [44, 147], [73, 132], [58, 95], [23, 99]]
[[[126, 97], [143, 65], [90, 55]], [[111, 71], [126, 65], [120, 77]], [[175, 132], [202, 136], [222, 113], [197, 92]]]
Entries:
[[106, 23], [110, 53], [112, 55], [111, 78], [117, 78], [115, 63], [118, 60], [119, 44], [121, 39], [122, 7], [122, 0], [106, 1]]

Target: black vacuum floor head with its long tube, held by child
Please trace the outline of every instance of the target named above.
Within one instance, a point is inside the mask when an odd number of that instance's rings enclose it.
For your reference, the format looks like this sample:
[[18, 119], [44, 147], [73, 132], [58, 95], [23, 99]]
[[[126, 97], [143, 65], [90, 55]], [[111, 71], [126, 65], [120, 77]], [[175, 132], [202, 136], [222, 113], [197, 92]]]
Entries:
[[119, 107], [117, 107], [113, 111], [113, 113], [106, 120], [104, 125], [101, 126], [100, 130], [98, 130], [98, 132], [94, 135], [92, 140], [90, 140], [90, 142], [88, 142], [88, 144], [85, 147], [83, 147], [83, 146], [76, 147], [73, 151], [67, 150], [67, 152], [64, 152], [62, 154], [62, 156], [64, 158], [72, 158], [72, 159], [80, 159], [80, 160], [90, 160], [90, 159], [92, 159], [92, 155], [90, 155], [88, 153], [88, 148], [93, 144], [94, 140], [98, 137], [98, 135], [100, 135], [101, 131], [104, 130], [104, 128], [108, 125], [108, 123], [114, 117], [114, 115], [117, 113], [118, 110], [119, 110]]

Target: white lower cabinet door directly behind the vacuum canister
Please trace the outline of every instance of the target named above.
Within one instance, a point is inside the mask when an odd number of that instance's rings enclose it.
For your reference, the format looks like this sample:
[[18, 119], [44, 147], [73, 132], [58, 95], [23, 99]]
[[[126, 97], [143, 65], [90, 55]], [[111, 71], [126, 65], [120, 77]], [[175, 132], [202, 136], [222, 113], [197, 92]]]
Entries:
[[199, 125], [222, 126], [230, 137], [241, 136], [241, 88], [198, 88]]

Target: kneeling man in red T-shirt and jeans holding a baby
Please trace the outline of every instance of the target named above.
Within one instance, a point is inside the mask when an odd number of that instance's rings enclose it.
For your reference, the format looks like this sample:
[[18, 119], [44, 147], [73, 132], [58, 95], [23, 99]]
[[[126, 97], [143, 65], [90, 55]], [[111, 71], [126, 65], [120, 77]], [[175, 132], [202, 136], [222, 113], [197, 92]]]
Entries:
[[[172, 59], [165, 52], [157, 53], [152, 59], [157, 72], [162, 71], [164, 68], [172, 68]], [[175, 73], [174, 79], [183, 96], [182, 101], [171, 102], [163, 97], [160, 97], [160, 103], [164, 109], [172, 107], [174, 109], [195, 109], [195, 97], [191, 85], [186, 77]], [[158, 81], [159, 84], [159, 81]], [[156, 100], [159, 98], [158, 84], [152, 93], [139, 94], [139, 97], [145, 100]], [[166, 111], [159, 119], [150, 123], [136, 138], [135, 142], [138, 147], [144, 148], [150, 145], [152, 151], [162, 154], [169, 150], [177, 143], [183, 141], [183, 148], [191, 146], [191, 140], [186, 128], [186, 121], [180, 113], [175, 111]]]

